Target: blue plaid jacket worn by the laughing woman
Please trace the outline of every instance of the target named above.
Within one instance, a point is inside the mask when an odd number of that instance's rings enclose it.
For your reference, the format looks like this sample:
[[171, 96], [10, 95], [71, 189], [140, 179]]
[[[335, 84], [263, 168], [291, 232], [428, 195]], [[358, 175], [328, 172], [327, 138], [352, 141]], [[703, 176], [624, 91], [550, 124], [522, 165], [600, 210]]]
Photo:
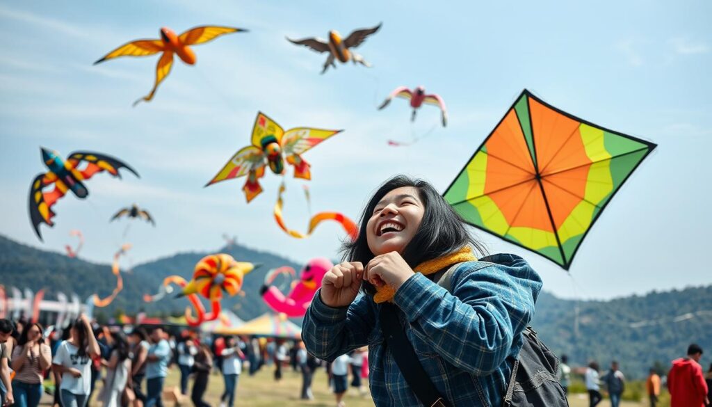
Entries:
[[[466, 262], [452, 274], [452, 294], [416, 273], [394, 303], [420, 363], [453, 406], [499, 407], [521, 332], [542, 287], [521, 257], [496, 254]], [[376, 406], [421, 406], [395, 363], [378, 321], [379, 305], [360, 295], [344, 308], [325, 305], [317, 292], [303, 321], [302, 339], [314, 356], [333, 361], [368, 345]]]

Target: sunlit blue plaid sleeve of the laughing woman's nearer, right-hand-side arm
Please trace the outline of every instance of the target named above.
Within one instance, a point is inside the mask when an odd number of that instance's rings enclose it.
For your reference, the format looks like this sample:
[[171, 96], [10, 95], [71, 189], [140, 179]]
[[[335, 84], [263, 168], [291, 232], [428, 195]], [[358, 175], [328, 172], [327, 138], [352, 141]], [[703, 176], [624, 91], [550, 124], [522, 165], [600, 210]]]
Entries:
[[413, 329], [443, 359], [478, 376], [492, 373], [506, 359], [513, 339], [533, 316], [541, 287], [535, 273], [534, 284], [528, 284], [506, 268], [481, 264], [467, 262], [456, 269], [453, 294], [415, 274], [394, 297]]

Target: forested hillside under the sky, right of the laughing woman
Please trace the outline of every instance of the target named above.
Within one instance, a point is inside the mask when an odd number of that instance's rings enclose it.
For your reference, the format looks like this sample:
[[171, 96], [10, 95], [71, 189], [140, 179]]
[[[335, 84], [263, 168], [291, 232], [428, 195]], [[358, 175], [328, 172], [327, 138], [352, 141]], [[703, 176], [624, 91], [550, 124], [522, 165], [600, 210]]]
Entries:
[[695, 342], [706, 350], [707, 369], [712, 286], [582, 302], [544, 292], [532, 326], [555, 354], [567, 354], [575, 366], [595, 360], [604, 369], [616, 359], [627, 376], [644, 378], [654, 365], [668, 369]]

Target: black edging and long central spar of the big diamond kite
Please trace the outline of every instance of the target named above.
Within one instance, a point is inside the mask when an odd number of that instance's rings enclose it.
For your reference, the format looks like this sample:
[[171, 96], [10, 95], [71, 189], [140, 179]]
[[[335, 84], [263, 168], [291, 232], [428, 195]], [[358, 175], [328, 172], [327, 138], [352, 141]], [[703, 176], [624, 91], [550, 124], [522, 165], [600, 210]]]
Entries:
[[[633, 154], [633, 153], [640, 153], [640, 152], [642, 152], [643, 150], [647, 150], [647, 152], [640, 158], [640, 160], [638, 161], [638, 163], [633, 166], [633, 168], [628, 172], [628, 174], [627, 174], [625, 177], [623, 177], [623, 179], [622, 179], [622, 181], [620, 182], [618, 188], [617, 188], [616, 190], [614, 190], [614, 191], [611, 192], [611, 195], [607, 198], [606, 202], [604, 202], [604, 204], [600, 207], [600, 210], [596, 213], [596, 215], [595, 215], [594, 217], [592, 217], [592, 220], [591, 220], [591, 223], [590, 223], [589, 227], [587, 228], [587, 230], [586, 230], [585, 232], [583, 232], [583, 235], [581, 236], [580, 243], [577, 245], [577, 247], [574, 249], [574, 251], [571, 253], [571, 256], [570, 256], [568, 259], [567, 259], [566, 255], [565, 255], [565, 253], [564, 253], [564, 249], [563, 249], [563, 246], [562, 246], [562, 244], [561, 244], [561, 240], [560, 240], [560, 238], [559, 238], [559, 233], [558, 233], [558, 231], [557, 231], [557, 228], [555, 227], [555, 222], [554, 222], [554, 220], [553, 220], [553, 215], [552, 215], [552, 213], [551, 213], [551, 208], [550, 208], [550, 206], [549, 206], [549, 201], [548, 201], [548, 199], [547, 199], [547, 197], [546, 197], [546, 192], [545, 192], [544, 187], [543, 187], [543, 184], [542, 184], [542, 182], [541, 182], [541, 176], [540, 176], [540, 172], [539, 172], [540, 169], [538, 168], [538, 165], [533, 165], [534, 170], [535, 170], [535, 172], [536, 172], [536, 174], [535, 174], [535, 180], [537, 181], [537, 183], [538, 183], [538, 185], [539, 185], [539, 188], [540, 188], [540, 190], [541, 190], [541, 193], [542, 193], [542, 195], [543, 195], [544, 202], [545, 202], [545, 206], [546, 206], [546, 210], [547, 210], [548, 216], [549, 216], [549, 221], [551, 222], [551, 224], [552, 224], [552, 226], [553, 226], [553, 234], [554, 234], [554, 236], [556, 237], [557, 246], [558, 246], [559, 252], [560, 252], [560, 254], [561, 254], [561, 258], [562, 258], [563, 261], [564, 261], [564, 264], [560, 264], [559, 262], [556, 262], [554, 259], [550, 259], [549, 257], [546, 257], [544, 254], [538, 252], [537, 250], [532, 249], [532, 248], [530, 248], [530, 247], [526, 247], [524, 244], [521, 244], [521, 243], [519, 243], [519, 242], [516, 242], [515, 240], [509, 239], [508, 237], [505, 237], [505, 236], [503, 236], [503, 235], [498, 235], [496, 232], [493, 232], [492, 230], [489, 230], [489, 229], [487, 229], [486, 227], [482, 227], [482, 226], [480, 226], [480, 225], [475, 225], [475, 224], [473, 224], [473, 223], [471, 223], [471, 222], [468, 222], [468, 220], [465, 220], [465, 222], [466, 222], [468, 225], [471, 225], [471, 226], [473, 226], [473, 227], [476, 227], [476, 228], [479, 229], [479, 230], [483, 230], [484, 232], [487, 232], [487, 233], [489, 233], [490, 235], [494, 235], [494, 236], [496, 236], [496, 237], [499, 237], [500, 239], [503, 239], [503, 240], [505, 240], [506, 242], [509, 242], [509, 243], [511, 243], [511, 244], [515, 244], [516, 246], [521, 247], [521, 248], [523, 248], [523, 249], [526, 249], [526, 250], [528, 250], [529, 252], [533, 252], [533, 253], [535, 253], [535, 254], [538, 254], [538, 255], [540, 255], [541, 257], [544, 257], [545, 259], [550, 260], [551, 262], [555, 262], [559, 267], [562, 267], [562, 269], [565, 269], [566, 271], [569, 271], [569, 269], [570, 269], [570, 267], [571, 267], [571, 264], [572, 264], [574, 258], [576, 257], [576, 253], [578, 252], [578, 250], [579, 250], [579, 249], [581, 248], [581, 246], [583, 245], [583, 242], [584, 242], [584, 240], [586, 239], [586, 236], [587, 236], [588, 233], [592, 230], [592, 228], [593, 228], [593, 226], [595, 225], [595, 223], [596, 223], [596, 221], [598, 220], [598, 218], [599, 218], [599, 217], [601, 216], [601, 214], [604, 212], [604, 210], [606, 209], [606, 207], [608, 206], [608, 204], [613, 200], [613, 198], [615, 197], [615, 195], [623, 188], [623, 185], [624, 185], [625, 182], [628, 180], [628, 178], [629, 178], [631, 175], [633, 175], [633, 173], [635, 172], [635, 170], [637, 170], [637, 168], [639, 167], [639, 165], [641, 165], [641, 164], [645, 161], [645, 159], [648, 157], [648, 155], [650, 155], [650, 153], [652, 153], [653, 150], [655, 150], [655, 148], [657, 147], [657, 145], [656, 145], [655, 143], [652, 143], [652, 142], [648, 141], [648, 140], [643, 140], [643, 139], [641, 139], [641, 138], [637, 138], [637, 137], [634, 137], [634, 136], [632, 136], [632, 135], [627, 135], [627, 134], [621, 133], [621, 132], [619, 132], [619, 131], [617, 131], [617, 130], [611, 130], [611, 129], [606, 128], [606, 127], [604, 127], [604, 126], [602, 126], [602, 125], [597, 125], [597, 124], [595, 124], [595, 123], [591, 123], [591, 122], [588, 121], [588, 120], [579, 118], [579, 117], [577, 117], [576, 115], [572, 115], [571, 113], [567, 113], [567, 112], [561, 110], [560, 108], [557, 108], [557, 107], [555, 107], [555, 106], [553, 106], [553, 105], [550, 105], [549, 103], [546, 103], [545, 101], [542, 101], [540, 98], [538, 98], [537, 96], [533, 95], [533, 93], [531, 93], [528, 89], [524, 89], [524, 90], [522, 91], [522, 93], [520, 93], [519, 96], [517, 96], [517, 97], [514, 99], [514, 102], [512, 103], [512, 105], [505, 111], [504, 115], [502, 115], [502, 118], [501, 118], [501, 119], [497, 122], [497, 124], [493, 127], [493, 129], [491, 130], [491, 132], [487, 135], [487, 137], [483, 140], [483, 142], [478, 146], [478, 148], [477, 148], [477, 149], [475, 150], [475, 152], [471, 155], [471, 157], [468, 158], [468, 160], [466, 160], [465, 165], [463, 165], [463, 167], [461, 168], [461, 170], [460, 170], [459, 172], [457, 172], [457, 175], [454, 177], [454, 179], [452, 180], [452, 182], [450, 182], [450, 185], [448, 185], [448, 187], [446, 188], [445, 192], [443, 192], [443, 197], [445, 197], [445, 195], [447, 195], [447, 193], [448, 193], [448, 192], [451, 190], [451, 188], [455, 185], [455, 182], [457, 182], [457, 180], [459, 179], [459, 176], [462, 174], [462, 172], [464, 172], [464, 171], [467, 170], [468, 165], [470, 165], [470, 163], [472, 162], [472, 160], [475, 158], [475, 155], [477, 155], [478, 153], [481, 153], [482, 148], [485, 147], [485, 145], [486, 145], [486, 143], [488, 142], [488, 140], [494, 135], [494, 133], [496, 133], [496, 131], [498, 130], [498, 128], [500, 127], [500, 125], [502, 124], [502, 122], [507, 118], [507, 115], [508, 115], [511, 111], [514, 111], [515, 115], [517, 116], [517, 122], [520, 123], [519, 115], [518, 115], [517, 110], [515, 109], [515, 106], [516, 106], [517, 103], [520, 101], [520, 99], [523, 98], [523, 97], [531, 98], [531, 99], [533, 99], [534, 101], [536, 101], [536, 102], [538, 102], [538, 103], [541, 103], [541, 104], [544, 105], [546, 108], [550, 108], [551, 110], [554, 110], [556, 113], [559, 113], [560, 115], [563, 115], [563, 116], [565, 116], [565, 117], [567, 117], [567, 118], [570, 118], [570, 119], [572, 119], [572, 120], [575, 120], [575, 121], [577, 121], [577, 122], [580, 122], [581, 124], [585, 124], [585, 125], [592, 126], [592, 127], [594, 127], [594, 128], [598, 128], [598, 129], [603, 130], [604, 132], [607, 132], [607, 133], [613, 133], [614, 135], [619, 135], [619, 136], [621, 136], [621, 137], [623, 137], [623, 138], [627, 138], [627, 139], [629, 139], [629, 140], [633, 140], [633, 141], [635, 141], [635, 142], [637, 142], [637, 143], [641, 143], [641, 144], [644, 144], [644, 145], [646, 146], [645, 148], [641, 148], [641, 149], [639, 149], [639, 150], [630, 151], [630, 152], [628, 152], [628, 153], [625, 153], [625, 154], [622, 154], [622, 155], [617, 155], [616, 157], [614, 157], [614, 158], [619, 158], [619, 157], [623, 157], [623, 156], [625, 156], [625, 155], [629, 155], [629, 154]], [[529, 109], [529, 108], [528, 108], [528, 109]], [[528, 116], [529, 116], [528, 119], [529, 119], [530, 128], [533, 128], [533, 125], [532, 125], [532, 118], [531, 118], [532, 115], [531, 115], [531, 113], [529, 113]], [[523, 130], [523, 129], [521, 129], [521, 130], [522, 130], [522, 133], [524, 134], [524, 130]], [[536, 155], [535, 133], [534, 133], [533, 131], [532, 131], [532, 145], [533, 145], [534, 154]], [[485, 194], [485, 195], [486, 195], [486, 194]], [[455, 204], [453, 204], [453, 203], [451, 203], [451, 202], [448, 202], [448, 203], [449, 203], [449, 205], [454, 206], [454, 205], [457, 205], [458, 203], [466, 202], [466, 201], [468, 201], [468, 200], [467, 200], [467, 199], [466, 199], [466, 200], [462, 200], [462, 201], [460, 201], [460, 202], [456, 202]]]

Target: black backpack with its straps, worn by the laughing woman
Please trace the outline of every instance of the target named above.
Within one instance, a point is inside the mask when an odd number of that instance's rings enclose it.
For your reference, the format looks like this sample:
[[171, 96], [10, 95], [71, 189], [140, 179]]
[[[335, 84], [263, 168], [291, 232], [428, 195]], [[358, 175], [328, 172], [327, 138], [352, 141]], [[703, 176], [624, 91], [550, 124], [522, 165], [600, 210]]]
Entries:
[[[451, 276], [457, 266], [459, 264], [437, 272], [433, 280], [451, 291]], [[387, 345], [408, 385], [425, 406], [449, 406], [426, 376], [402, 329], [394, 329], [398, 325], [394, 324], [397, 316], [391, 308], [382, 306], [381, 325]], [[522, 339], [522, 349], [512, 366], [503, 407], [568, 407], [566, 394], [557, 376], [559, 360], [530, 326], [522, 332]]]

